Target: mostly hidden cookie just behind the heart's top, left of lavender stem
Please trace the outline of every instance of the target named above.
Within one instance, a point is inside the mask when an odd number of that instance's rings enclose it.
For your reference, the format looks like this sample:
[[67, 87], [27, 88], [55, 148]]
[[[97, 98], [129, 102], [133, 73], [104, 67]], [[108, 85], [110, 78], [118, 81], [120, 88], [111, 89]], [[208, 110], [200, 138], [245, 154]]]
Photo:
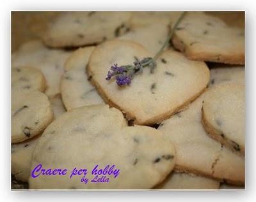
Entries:
[[147, 48], [152, 54], [156, 54], [163, 47], [167, 37], [168, 27], [166, 25], [151, 24], [131, 30], [118, 39], [135, 41]]

